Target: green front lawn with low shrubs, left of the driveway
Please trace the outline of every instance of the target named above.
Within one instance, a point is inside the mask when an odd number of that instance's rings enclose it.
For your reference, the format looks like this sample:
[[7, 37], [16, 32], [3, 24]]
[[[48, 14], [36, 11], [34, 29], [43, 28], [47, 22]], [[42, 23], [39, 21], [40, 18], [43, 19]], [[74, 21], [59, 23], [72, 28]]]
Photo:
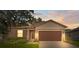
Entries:
[[31, 42], [22, 38], [10, 38], [0, 42], [0, 48], [39, 48], [38, 42]]

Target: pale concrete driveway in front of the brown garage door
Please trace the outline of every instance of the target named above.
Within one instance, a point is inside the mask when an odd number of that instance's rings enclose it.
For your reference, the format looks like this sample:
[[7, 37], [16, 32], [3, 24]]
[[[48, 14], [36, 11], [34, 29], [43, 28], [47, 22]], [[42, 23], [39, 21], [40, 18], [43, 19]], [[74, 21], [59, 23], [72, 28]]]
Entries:
[[40, 41], [40, 48], [77, 48], [75, 45], [61, 41]]

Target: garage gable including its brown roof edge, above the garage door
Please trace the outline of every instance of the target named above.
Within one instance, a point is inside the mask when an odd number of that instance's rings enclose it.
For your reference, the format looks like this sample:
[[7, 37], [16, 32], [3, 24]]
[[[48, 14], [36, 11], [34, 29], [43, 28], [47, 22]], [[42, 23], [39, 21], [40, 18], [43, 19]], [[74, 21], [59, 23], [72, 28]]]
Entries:
[[66, 26], [60, 24], [60, 23], [57, 23], [55, 21], [52, 21], [52, 20], [49, 20], [49, 21], [46, 21], [45, 23], [37, 26], [35, 29], [38, 29], [38, 30], [64, 30], [66, 28]]

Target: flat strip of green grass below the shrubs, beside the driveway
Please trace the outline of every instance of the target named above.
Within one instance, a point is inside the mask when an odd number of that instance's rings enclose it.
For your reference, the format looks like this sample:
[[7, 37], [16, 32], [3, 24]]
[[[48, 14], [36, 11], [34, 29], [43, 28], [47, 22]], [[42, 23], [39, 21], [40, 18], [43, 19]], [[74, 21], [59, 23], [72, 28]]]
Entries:
[[[16, 45], [16, 44], [15, 44]], [[0, 48], [39, 48], [38, 44], [0, 44]]]

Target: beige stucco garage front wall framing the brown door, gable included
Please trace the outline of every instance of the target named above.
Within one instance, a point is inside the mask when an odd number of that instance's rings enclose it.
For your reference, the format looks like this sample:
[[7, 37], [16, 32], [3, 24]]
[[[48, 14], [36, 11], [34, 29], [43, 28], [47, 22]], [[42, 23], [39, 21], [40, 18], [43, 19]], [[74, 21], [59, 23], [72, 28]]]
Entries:
[[35, 39], [39, 40], [39, 31], [61, 31], [62, 41], [65, 40], [64, 27], [53, 22], [48, 22], [35, 28]]

